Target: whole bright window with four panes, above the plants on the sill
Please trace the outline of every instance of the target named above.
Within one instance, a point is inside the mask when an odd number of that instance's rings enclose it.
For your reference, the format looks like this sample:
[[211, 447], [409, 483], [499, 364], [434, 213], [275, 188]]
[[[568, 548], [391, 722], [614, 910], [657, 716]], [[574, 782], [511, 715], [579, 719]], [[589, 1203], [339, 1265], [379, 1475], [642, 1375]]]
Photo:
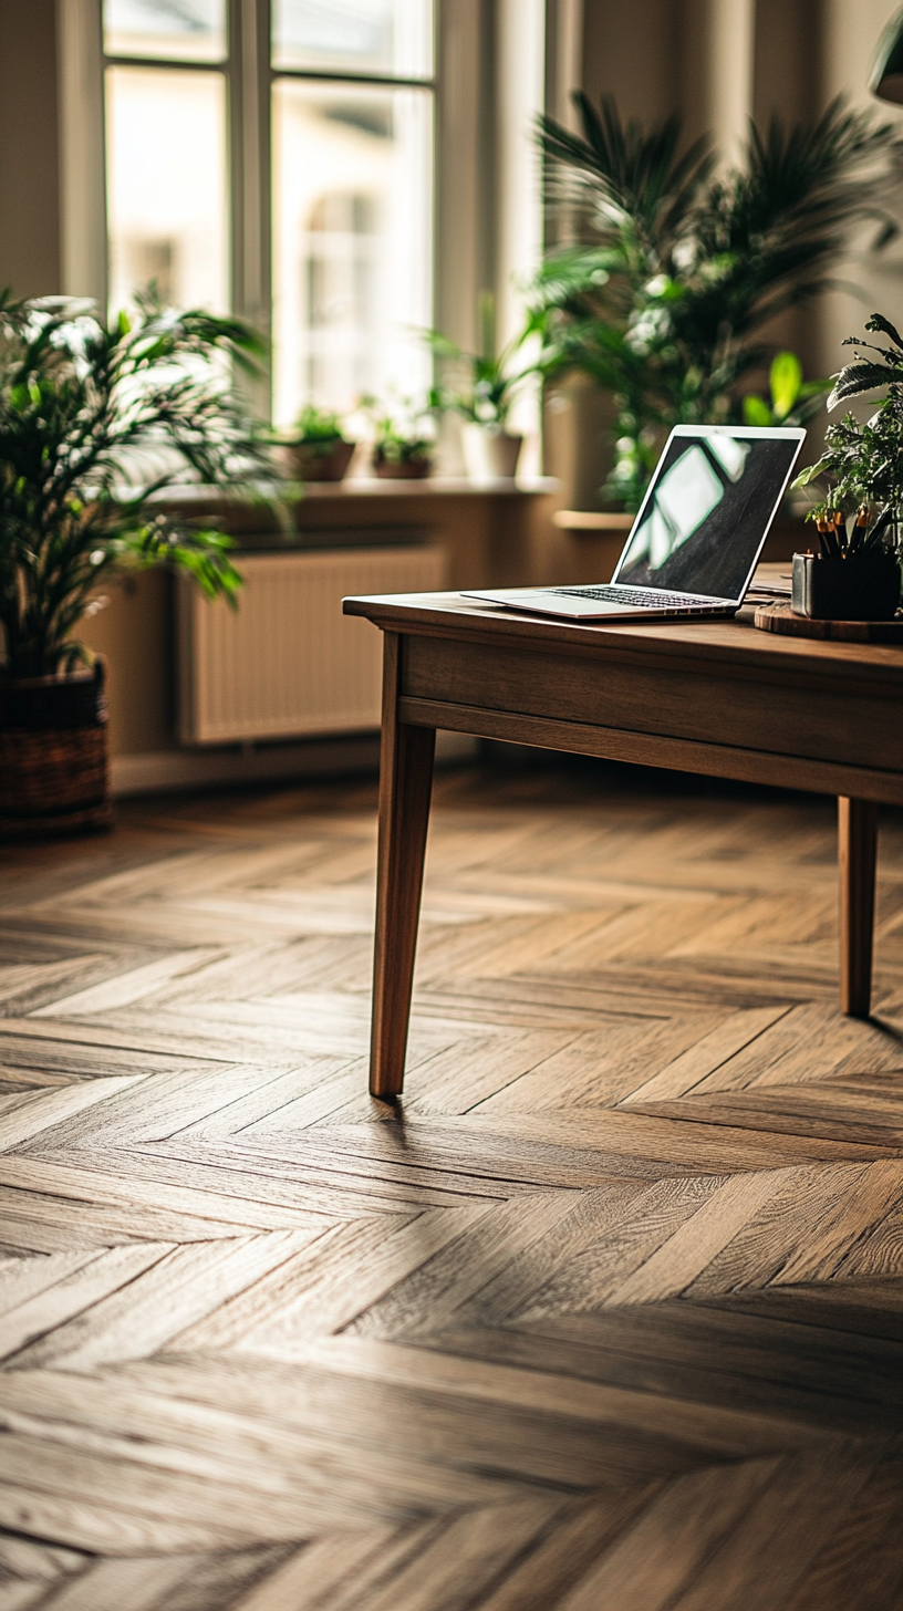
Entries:
[[103, 61], [110, 306], [271, 327], [281, 425], [422, 391], [432, 0], [105, 0]]

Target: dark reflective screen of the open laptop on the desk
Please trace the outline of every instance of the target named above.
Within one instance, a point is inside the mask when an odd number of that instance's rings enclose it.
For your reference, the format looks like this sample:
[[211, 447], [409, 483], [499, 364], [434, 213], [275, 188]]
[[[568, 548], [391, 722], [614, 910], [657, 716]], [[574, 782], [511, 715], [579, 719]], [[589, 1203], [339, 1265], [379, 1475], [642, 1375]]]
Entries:
[[672, 433], [614, 582], [740, 599], [803, 430]]

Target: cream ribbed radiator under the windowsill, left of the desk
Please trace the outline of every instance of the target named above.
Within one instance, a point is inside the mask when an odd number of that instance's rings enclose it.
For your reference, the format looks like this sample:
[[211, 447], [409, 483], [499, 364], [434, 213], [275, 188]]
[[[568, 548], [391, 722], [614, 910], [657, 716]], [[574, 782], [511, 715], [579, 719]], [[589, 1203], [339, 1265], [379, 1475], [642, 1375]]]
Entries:
[[179, 586], [179, 738], [229, 744], [379, 727], [382, 633], [348, 593], [440, 588], [440, 548], [245, 554], [239, 609]]

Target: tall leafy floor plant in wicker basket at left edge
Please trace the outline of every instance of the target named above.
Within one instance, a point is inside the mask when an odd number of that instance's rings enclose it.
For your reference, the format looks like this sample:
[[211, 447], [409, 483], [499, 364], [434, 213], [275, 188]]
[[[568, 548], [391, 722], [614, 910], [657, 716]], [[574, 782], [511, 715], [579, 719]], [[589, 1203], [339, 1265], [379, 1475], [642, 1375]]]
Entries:
[[153, 499], [263, 472], [223, 375], [223, 356], [261, 351], [239, 321], [152, 293], [110, 324], [92, 303], [0, 293], [0, 834], [110, 822], [105, 667], [74, 636], [98, 582], [171, 564], [234, 596], [229, 538]]

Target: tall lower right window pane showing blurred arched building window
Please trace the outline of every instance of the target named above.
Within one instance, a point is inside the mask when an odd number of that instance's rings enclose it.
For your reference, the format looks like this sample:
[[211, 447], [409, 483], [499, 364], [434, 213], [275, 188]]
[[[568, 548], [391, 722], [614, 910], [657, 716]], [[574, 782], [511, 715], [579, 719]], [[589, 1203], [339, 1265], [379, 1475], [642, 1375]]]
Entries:
[[274, 85], [274, 417], [422, 395], [432, 308], [429, 90]]

